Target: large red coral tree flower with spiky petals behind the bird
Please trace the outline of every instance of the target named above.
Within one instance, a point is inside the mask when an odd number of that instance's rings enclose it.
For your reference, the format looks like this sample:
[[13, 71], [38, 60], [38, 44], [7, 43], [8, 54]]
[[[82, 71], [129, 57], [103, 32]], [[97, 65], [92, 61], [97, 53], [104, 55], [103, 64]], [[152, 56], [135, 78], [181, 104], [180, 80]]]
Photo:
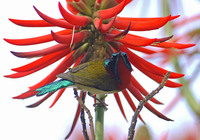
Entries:
[[[40, 58], [24, 66], [12, 69], [16, 73], [6, 75], [5, 77], [24, 77], [33, 74], [63, 58], [61, 63], [49, 75], [47, 75], [39, 83], [29, 87], [27, 92], [14, 97], [14, 99], [25, 99], [34, 96], [37, 92], [33, 90], [53, 82], [56, 79], [57, 74], [65, 72], [73, 64], [76, 66], [80, 63], [88, 62], [96, 58], [108, 58], [112, 53], [117, 51], [126, 52], [129, 56], [131, 64], [135, 68], [139, 69], [142, 73], [157, 83], [160, 83], [163, 76], [167, 73], [167, 70], [151, 64], [136, 55], [132, 50], [151, 55], [157, 52], [148, 48], [148, 46], [166, 49], [185, 49], [194, 46], [194, 44], [166, 42], [171, 37], [158, 39], [129, 34], [128, 31], [147, 31], [158, 29], [164, 26], [167, 22], [179, 17], [169, 15], [167, 17], [157, 18], [124, 18], [117, 16], [129, 2], [131, 2], [131, 0], [67, 0], [67, 8], [71, 13], [68, 12], [61, 5], [61, 3], [58, 3], [62, 18], [52, 18], [34, 7], [42, 20], [9, 19], [11, 22], [19, 26], [60, 27], [61, 30], [57, 32], [51, 31], [50, 34], [33, 38], [4, 39], [10, 44], [19, 46], [41, 44], [51, 41], [57, 42], [54, 46], [31, 52], [11, 51], [13, 55], [20, 58]], [[176, 79], [182, 76], [184, 75], [172, 72], [169, 78]], [[182, 86], [182, 84], [168, 80], [165, 86], [176, 88]], [[60, 89], [57, 92], [57, 96], [50, 107], [57, 102], [64, 91], [65, 89]], [[146, 96], [148, 92], [134, 78], [134, 76], [131, 77], [129, 87], [122, 91], [122, 93], [133, 111], [135, 111], [136, 106], [134, 105], [128, 91], [139, 101], [142, 100], [143, 95]], [[40, 105], [52, 94], [54, 94], [54, 92], [47, 94], [41, 100], [28, 107], [36, 107]], [[126, 119], [119, 93], [114, 93], [113, 95], [118, 103], [121, 113]], [[156, 104], [161, 104], [155, 98], [151, 101]], [[158, 117], [168, 121], [170, 120], [153, 108], [149, 103], [146, 103], [145, 107]], [[80, 105], [77, 108], [71, 131], [67, 137], [69, 137], [72, 133], [79, 115]], [[141, 116], [140, 119], [142, 120]]]

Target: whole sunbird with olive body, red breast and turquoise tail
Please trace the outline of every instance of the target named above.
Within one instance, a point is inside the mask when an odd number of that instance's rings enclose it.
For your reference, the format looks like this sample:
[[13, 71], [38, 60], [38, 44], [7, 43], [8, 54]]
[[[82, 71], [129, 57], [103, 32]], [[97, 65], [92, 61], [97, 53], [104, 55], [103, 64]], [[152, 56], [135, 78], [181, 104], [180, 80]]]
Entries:
[[115, 93], [128, 87], [131, 71], [127, 54], [117, 52], [110, 58], [86, 62], [69, 69], [66, 73], [58, 74], [60, 80], [35, 91], [38, 91], [37, 96], [41, 96], [61, 88], [75, 87], [90, 94]]

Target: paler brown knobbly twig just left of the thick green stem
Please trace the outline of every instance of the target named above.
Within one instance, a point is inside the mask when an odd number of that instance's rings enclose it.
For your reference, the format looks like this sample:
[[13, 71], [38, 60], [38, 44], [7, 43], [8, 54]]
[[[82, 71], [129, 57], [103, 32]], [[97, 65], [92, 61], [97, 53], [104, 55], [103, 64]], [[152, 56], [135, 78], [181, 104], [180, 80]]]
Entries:
[[93, 117], [90, 113], [90, 110], [84, 105], [82, 99], [78, 96], [76, 89], [74, 89], [74, 94], [76, 96], [76, 99], [78, 100], [81, 108], [83, 108], [87, 114], [88, 114], [88, 118], [89, 118], [89, 125], [90, 125], [90, 131], [91, 131], [91, 135], [92, 135], [92, 140], [95, 140], [95, 133], [94, 133], [94, 123], [93, 123]]

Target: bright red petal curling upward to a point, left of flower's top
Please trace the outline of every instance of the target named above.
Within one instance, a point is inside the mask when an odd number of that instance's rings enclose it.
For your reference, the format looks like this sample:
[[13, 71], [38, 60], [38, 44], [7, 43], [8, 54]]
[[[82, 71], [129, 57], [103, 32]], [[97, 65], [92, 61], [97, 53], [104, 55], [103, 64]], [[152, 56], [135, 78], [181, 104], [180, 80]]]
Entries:
[[72, 15], [70, 13], [68, 13], [63, 6], [61, 5], [61, 3], [59, 2], [59, 10], [63, 16], [63, 18], [73, 24], [73, 25], [78, 25], [78, 26], [86, 26], [87, 24], [89, 24], [92, 20], [90, 17], [86, 17], [86, 16], [77, 16], [77, 15]]

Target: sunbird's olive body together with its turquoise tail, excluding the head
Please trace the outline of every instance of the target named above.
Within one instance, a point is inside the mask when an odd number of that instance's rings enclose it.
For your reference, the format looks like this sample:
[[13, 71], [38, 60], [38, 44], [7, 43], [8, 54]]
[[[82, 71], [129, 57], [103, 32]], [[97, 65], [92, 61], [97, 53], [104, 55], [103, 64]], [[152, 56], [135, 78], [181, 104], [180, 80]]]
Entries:
[[118, 91], [115, 79], [105, 69], [104, 61], [101, 59], [83, 63], [66, 73], [58, 74], [57, 77], [62, 79], [36, 89], [37, 96], [68, 86], [98, 94]]

